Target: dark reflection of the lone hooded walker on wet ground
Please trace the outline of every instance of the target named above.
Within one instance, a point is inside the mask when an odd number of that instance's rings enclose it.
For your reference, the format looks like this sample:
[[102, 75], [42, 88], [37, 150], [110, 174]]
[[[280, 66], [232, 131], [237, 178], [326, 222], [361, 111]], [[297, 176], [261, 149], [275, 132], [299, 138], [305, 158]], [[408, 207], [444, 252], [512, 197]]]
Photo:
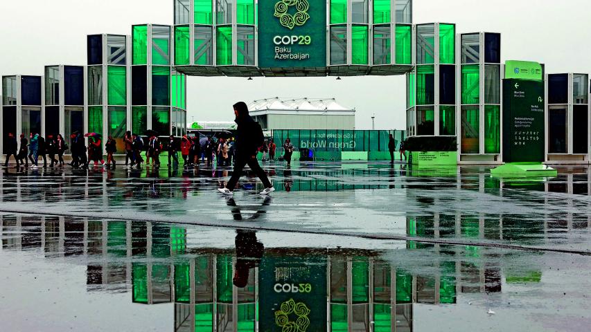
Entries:
[[[236, 205], [233, 198], [227, 199], [227, 204], [231, 208], [232, 215], [236, 221], [254, 221], [266, 214], [266, 207], [272, 202], [270, 196], [265, 197], [265, 201], [252, 216], [244, 219], [240, 207]], [[236, 266], [234, 266], [233, 284], [238, 288], [245, 288], [248, 284], [250, 270], [256, 268], [261, 263], [265, 246], [256, 239], [254, 230], [236, 230]]]

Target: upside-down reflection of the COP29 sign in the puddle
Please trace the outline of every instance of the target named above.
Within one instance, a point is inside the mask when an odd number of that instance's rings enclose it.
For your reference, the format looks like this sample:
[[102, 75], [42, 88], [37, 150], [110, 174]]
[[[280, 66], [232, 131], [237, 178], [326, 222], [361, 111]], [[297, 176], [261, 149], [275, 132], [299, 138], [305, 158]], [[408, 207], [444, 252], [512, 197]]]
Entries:
[[259, 331], [326, 330], [326, 259], [263, 257]]

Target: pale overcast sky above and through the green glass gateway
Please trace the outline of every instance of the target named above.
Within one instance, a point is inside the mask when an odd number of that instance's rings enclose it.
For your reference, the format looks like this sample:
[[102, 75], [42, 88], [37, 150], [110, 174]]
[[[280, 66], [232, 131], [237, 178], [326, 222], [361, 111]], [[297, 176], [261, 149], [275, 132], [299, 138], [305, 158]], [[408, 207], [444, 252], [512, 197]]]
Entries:
[[[502, 58], [543, 62], [549, 73], [591, 72], [587, 0], [414, 0], [414, 23], [502, 33]], [[42, 75], [49, 64], [85, 64], [86, 35], [130, 34], [132, 24], [173, 24], [172, 0], [0, 0], [0, 75]], [[189, 77], [188, 121], [233, 120], [231, 104], [271, 97], [336, 98], [357, 109], [357, 128], [405, 127], [405, 80], [396, 77]]]

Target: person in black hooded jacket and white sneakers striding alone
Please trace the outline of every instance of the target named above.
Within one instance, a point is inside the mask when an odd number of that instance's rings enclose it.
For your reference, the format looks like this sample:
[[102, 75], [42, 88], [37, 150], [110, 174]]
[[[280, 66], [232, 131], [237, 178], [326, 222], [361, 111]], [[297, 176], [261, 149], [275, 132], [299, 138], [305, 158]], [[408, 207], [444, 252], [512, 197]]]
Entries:
[[275, 188], [267, 178], [267, 174], [258, 165], [256, 160], [256, 150], [263, 145], [265, 136], [263, 136], [263, 129], [258, 122], [255, 122], [248, 113], [248, 107], [245, 102], [238, 102], [233, 105], [234, 115], [236, 116], [236, 161], [234, 162], [234, 169], [232, 176], [227, 185], [223, 188], [218, 188], [218, 191], [224, 195], [233, 195], [233, 190], [242, 176], [242, 169], [245, 165], [249, 165], [250, 169], [255, 172], [256, 176], [261, 179], [265, 190], [261, 192], [262, 195], [268, 195], [275, 191]]

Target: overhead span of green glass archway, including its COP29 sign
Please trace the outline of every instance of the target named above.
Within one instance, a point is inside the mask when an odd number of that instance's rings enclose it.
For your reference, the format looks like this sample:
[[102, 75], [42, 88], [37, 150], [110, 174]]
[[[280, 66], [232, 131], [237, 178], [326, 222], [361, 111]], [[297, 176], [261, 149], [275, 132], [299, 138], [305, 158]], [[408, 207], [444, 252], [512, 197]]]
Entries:
[[174, 63], [196, 76], [401, 75], [412, 0], [175, 0]]

